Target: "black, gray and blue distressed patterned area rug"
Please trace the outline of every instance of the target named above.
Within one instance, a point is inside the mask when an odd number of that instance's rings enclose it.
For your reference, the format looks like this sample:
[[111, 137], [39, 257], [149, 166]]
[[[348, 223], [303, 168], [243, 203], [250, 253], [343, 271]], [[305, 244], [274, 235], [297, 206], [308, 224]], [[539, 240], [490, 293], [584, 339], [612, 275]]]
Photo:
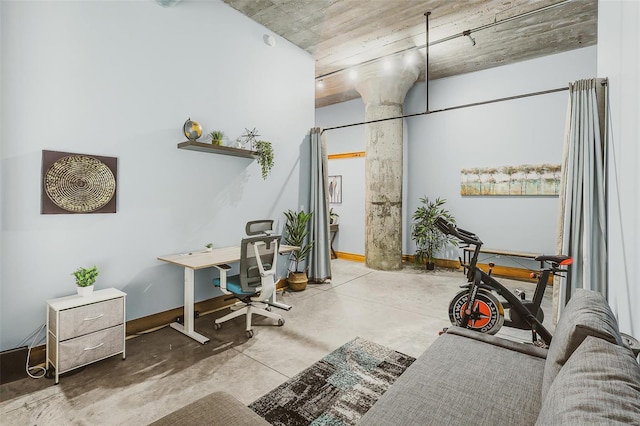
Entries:
[[413, 361], [356, 337], [249, 408], [272, 425], [353, 425]]

